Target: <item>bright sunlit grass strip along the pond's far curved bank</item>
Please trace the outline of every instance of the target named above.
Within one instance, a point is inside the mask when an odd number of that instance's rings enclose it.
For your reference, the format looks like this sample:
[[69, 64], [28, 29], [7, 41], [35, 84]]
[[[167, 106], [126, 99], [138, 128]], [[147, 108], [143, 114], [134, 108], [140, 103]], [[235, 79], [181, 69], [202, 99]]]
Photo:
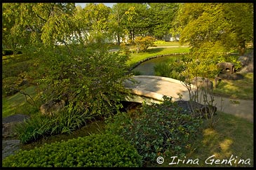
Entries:
[[133, 64], [147, 57], [152, 57], [155, 55], [166, 55], [170, 53], [180, 53], [180, 52], [189, 52], [189, 48], [188, 47], [151, 48], [151, 49], [148, 49], [147, 52], [143, 52], [143, 53], [133, 52], [133, 54], [130, 55], [127, 64], [130, 64], [130, 66], [132, 66]]

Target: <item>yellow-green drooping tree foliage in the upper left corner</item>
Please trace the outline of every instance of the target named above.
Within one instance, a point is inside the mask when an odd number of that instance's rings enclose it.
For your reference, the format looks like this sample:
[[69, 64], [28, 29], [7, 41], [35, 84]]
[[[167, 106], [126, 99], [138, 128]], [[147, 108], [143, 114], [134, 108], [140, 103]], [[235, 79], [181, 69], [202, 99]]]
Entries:
[[3, 43], [25, 48], [65, 41], [74, 28], [74, 8], [74, 3], [3, 3]]

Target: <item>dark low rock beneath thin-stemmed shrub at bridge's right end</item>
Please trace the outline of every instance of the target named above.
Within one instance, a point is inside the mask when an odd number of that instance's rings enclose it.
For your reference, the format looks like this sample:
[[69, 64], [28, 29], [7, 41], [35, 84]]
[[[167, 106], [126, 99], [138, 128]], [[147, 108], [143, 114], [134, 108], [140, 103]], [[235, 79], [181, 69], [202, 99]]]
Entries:
[[178, 100], [175, 101], [175, 103], [177, 104], [177, 106], [180, 106], [180, 108], [182, 108], [184, 111], [187, 111], [187, 113], [194, 113], [195, 116], [201, 115], [204, 117], [206, 113], [210, 115], [211, 113], [215, 114], [215, 112], [217, 111], [216, 106], [198, 104], [196, 101]]

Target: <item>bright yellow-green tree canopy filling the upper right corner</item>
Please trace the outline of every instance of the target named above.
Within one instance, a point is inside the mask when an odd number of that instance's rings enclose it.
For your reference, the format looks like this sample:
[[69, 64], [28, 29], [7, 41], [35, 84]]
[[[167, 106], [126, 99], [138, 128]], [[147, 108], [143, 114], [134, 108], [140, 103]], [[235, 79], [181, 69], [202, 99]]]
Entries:
[[253, 38], [252, 3], [183, 3], [176, 19], [180, 41], [194, 50], [218, 45], [243, 55]]

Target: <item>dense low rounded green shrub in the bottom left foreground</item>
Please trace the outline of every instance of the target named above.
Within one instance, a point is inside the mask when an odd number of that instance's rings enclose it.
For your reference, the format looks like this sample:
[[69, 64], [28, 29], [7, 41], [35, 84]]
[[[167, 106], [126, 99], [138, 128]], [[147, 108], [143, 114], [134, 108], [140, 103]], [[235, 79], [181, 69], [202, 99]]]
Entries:
[[142, 157], [128, 141], [111, 134], [44, 144], [20, 150], [3, 160], [3, 167], [141, 167]]

